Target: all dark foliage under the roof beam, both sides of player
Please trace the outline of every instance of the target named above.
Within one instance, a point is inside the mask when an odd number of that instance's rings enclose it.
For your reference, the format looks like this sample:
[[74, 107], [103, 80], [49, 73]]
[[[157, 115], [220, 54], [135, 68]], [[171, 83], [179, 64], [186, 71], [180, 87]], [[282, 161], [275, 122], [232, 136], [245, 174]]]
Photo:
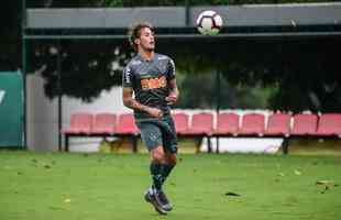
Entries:
[[[50, 54], [53, 45], [37, 44], [29, 56], [29, 64], [35, 64], [32, 70], [47, 66], [42, 75], [51, 98], [58, 95], [56, 55]], [[182, 91], [178, 108], [212, 109], [219, 101], [221, 108], [332, 112], [341, 110], [341, 78], [333, 56], [340, 45], [337, 38], [160, 40], [157, 52], [175, 59]], [[121, 85], [122, 68], [132, 56], [124, 42], [64, 41], [62, 47], [63, 95], [87, 101]], [[112, 63], [118, 64], [114, 70]]]

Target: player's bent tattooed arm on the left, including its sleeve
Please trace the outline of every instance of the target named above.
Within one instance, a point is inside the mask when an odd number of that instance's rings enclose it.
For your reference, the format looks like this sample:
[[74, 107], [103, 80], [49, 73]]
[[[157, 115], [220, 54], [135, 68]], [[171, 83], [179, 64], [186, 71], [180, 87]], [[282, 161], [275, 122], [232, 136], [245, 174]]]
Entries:
[[132, 73], [130, 67], [127, 67], [123, 72], [122, 86], [122, 99], [125, 107], [133, 110], [144, 111], [155, 118], [163, 116], [163, 112], [160, 109], [144, 106], [133, 98]]

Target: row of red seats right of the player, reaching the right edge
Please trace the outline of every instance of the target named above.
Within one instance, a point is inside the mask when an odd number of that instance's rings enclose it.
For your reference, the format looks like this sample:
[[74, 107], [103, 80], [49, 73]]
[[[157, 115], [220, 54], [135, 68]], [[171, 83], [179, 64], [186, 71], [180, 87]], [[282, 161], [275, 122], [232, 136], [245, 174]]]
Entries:
[[[178, 124], [179, 134], [206, 134], [213, 136], [223, 135], [257, 135], [257, 136], [289, 136], [289, 135], [338, 135], [341, 136], [341, 113], [317, 114], [288, 114], [274, 113], [268, 116], [265, 124], [265, 116], [261, 113], [246, 113], [240, 117], [237, 113], [220, 113], [217, 116], [217, 127], [213, 128], [213, 116], [198, 113], [193, 116], [191, 128], [186, 127], [188, 116], [184, 113], [174, 116]], [[293, 120], [293, 127], [292, 127]], [[188, 123], [187, 123], [188, 124]]]

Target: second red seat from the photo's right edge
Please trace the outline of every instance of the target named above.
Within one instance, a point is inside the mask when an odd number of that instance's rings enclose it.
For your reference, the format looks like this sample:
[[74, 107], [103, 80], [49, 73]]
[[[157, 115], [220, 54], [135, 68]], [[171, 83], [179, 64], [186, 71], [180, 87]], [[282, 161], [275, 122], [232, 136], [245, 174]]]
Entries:
[[294, 116], [294, 127], [290, 131], [293, 135], [315, 135], [318, 117], [310, 113], [299, 113]]

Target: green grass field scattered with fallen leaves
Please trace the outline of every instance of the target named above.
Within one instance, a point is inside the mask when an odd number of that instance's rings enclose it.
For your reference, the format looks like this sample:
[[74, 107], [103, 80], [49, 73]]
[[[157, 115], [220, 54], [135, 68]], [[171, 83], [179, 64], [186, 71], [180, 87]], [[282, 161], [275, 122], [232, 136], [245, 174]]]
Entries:
[[341, 219], [339, 156], [179, 155], [166, 217], [148, 184], [146, 154], [0, 151], [0, 219]]

